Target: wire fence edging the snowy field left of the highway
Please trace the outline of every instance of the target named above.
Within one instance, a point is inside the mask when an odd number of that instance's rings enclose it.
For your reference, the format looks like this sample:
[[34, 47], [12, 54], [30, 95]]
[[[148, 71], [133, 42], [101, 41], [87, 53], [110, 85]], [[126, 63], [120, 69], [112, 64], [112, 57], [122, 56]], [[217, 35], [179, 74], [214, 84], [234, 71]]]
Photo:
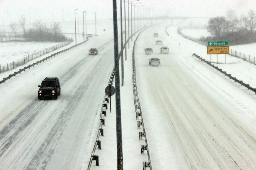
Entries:
[[32, 60], [34, 60], [34, 59], [44, 55], [44, 54], [47, 54], [47, 53], [52, 52], [52, 51], [54, 51], [56, 49], [59, 49], [59, 48], [61, 48], [63, 46], [66, 46], [66, 45], [70, 44], [71, 42], [72, 41], [65, 41], [65, 42], [56, 44], [54, 46], [51, 46], [49, 48], [42, 49], [42, 50], [40, 50], [38, 52], [34, 52], [32, 54], [28, 54], [26, 57], [20, 58], [20, 59], [18, 59], [16, 61], [9, 62], [9, 63], [7, 63], [5, 65], [0, 65], [0, 73], [4, 73], [4, 72], [10, 71], [10, 70], [13, 70], [13, 69], [15, 69], [15, 68], [17, 68], [17, 67], [19, 67], [21, 65], [26, 64], [29, 61], [32, 61]]

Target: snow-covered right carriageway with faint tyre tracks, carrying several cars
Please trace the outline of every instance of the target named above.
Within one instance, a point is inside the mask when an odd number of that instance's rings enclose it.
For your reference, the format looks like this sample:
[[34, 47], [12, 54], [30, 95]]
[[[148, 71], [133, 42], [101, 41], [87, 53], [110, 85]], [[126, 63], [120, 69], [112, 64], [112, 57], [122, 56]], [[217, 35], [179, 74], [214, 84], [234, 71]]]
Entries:
[[[191, 57], [196, 44], [177, 35], [177, 27], [168, 28], [168, 37], [166, 25], [143, 32], [135, 50], [152, 166], [256, 169], [255, 95]], [[156, 40], [170, 54], [160, 54]], [[152, 55], [144, 54], [146, 47]], [[149, 66], [151, 57], [161, 60], [160, 67]]]

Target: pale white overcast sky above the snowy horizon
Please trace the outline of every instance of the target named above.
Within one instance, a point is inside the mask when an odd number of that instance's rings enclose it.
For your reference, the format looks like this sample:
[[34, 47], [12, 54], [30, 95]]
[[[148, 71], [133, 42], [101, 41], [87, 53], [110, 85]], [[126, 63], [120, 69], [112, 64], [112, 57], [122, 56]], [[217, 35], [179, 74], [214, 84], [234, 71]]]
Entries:
[[[227, 9], [235, 9], [240, 15], [250, 9], [256, 11], [256, 0], [140, 0], [143, 5], [162, 16], [224, 16]], [[118, 0], [118, 6], [120, 1]], [[43, 22], [73, 21], [74, 9], [78, 9], [79, 20], [82, 11], [87, 11], [88, 20], [111, 19], [112, 0], [0, 0], [0, 25], [17, 22], [22, 14], [27, 23], [41, 19]]]

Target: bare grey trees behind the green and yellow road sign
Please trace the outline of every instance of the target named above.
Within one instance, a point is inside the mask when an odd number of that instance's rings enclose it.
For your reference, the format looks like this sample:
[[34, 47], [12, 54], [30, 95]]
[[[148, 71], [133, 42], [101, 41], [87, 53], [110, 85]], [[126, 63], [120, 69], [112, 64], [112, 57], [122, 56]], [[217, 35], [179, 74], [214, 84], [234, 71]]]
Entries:
[[212, 36], [201, 37], [201, 41], [230, 40], [231, 45], [256, 42], [256, 13], [250, 10], [247, 15], [239, 18], [232, 9], [227, 11], [226, 17], [214, 17], [208, 21], [207, 31]]

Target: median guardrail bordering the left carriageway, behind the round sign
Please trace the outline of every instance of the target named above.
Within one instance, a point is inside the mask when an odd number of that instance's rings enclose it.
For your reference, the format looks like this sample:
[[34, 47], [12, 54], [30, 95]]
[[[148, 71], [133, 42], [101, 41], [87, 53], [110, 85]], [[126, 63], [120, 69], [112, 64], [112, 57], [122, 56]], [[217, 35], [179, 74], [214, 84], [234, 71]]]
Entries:
[[[146, 28], [148, 28], [148, 27], [146, 27]], [[139, 31], [143, 31], [143, 30], [145, 30], [146, 28], [140, 29]], [[135, 35], [136, 33], [138, 33], [139, 31], [136, 31], [132, 36], [134, 36], [134, 35]], [[138, 35], [140, 35], [140, 33], [139, 33]], [[128, 43], [128, 41], [132, 38], [132, 36], [130, 36], [130, 37], [127, 39], [127, 41], [124, 43], [123, 49], [126, 48], [127, 43]], [[137, 39], [138, 39], [138, 36], [137, 36]], [[137, 39], [136, 39], [136, 40], [137, 40]], [[119, 52], [118, 56], [119, 56], [119, 59], [120, 59], [120, 57], [121, 57], [121, 51]], [[114, 76], [115, 76], [115, 67], [114, 67], [113, 70], [112, 70], [112, 73], [111, 73], [111, 76], [110, 76], [108, 85], [113, 83]], [[100, 140], [99, 140], [99, 137], [100, 137], [100, 134], [103, 133], [103, 129], [102, 129], [103, 123], [102, 123], [102, 120], [104, 120], [104, 119], [102, 118], [102, 115], [106, 116], [106, 110], [104, 110], [104, 107], [103, 107], [103, 105], [106, 105], [106, 104], [108, 103], [108, 102], [106, 103], [106, 101], [107, 101], [107, 96], [106, 96], [106, 94], [105, 94], [104, 100], [103, 100], [103, 103], [102, 103], [101, 114], [100, 114], [99, 130], [98, 130], [98, 134], [97, 134], [97, 137], [96, 137], [96, 142], [95, 142], [95, 144], [94, 144], [94, 146], [93, 146], [93, 151], [92, 151], [92, 154], [91, 154], [91, 157], [90, 157], [90, 161], [89, 161], [89, 163], [88, 163], [88, 168], [87, 168], [87, 170], [90, 170], [91, 165], [92, 165], [92, 161], [96, 161], [96, 166], [99, 166], [99, 155], [95, 155], [95, 152], [96, 152], [97, 145], [98, 145], [98, 148], [101, 149], [101, 142], [100, 142]], [[104, 120], [104, 124], [105, 124], [105, 120]], [[144, 127], [143, 127], [143, 129], [144, 129]], [[144, 129], [144, 131], [145, 131], [145, 129]], [[102, 135], [102, 136], [103, 136], [103, 135]], [[149, 160], [150, 160], [150, 159], [149, 159]], [[150, 164], [150, 165], [151, 165], [151, 164]]]

